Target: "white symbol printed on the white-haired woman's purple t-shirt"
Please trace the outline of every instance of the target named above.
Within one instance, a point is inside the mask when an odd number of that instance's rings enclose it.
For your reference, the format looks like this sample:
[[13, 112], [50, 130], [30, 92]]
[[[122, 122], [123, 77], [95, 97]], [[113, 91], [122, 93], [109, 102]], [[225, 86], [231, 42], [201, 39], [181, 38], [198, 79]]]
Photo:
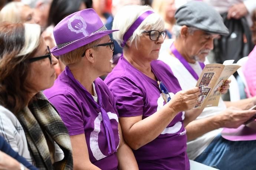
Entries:
[[[171, 96], [171, 98], [173, 98], [174, 93], [169, 92], [169, 95]], [[157, 110], [161, 109], [163, 106], [164, 106], [164, 99], [160, 95], [160, 97], [157, 100]], [[185, 112], [182, 112], [182, 120], [184, 120], [184, 118], [185, 118]], [[178, 131], [180, 131], [181, 128], [182, 128], [182, 123], [177, 122], [172, 127], [165, 128], [161, 134], [162, 135], [164, 135], [164, 134], [174, 134], [174, 133], [177, 133]]]

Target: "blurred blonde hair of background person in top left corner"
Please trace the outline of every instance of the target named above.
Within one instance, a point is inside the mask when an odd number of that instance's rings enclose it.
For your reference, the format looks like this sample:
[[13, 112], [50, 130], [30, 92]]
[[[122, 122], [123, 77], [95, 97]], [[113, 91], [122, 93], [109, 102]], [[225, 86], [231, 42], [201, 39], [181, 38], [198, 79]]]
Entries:
[[0, 22], [9, 21], [12, 23], [20, 23], [20, 8], [25, 6], [21, 2], [10, 2], [0, 11]]

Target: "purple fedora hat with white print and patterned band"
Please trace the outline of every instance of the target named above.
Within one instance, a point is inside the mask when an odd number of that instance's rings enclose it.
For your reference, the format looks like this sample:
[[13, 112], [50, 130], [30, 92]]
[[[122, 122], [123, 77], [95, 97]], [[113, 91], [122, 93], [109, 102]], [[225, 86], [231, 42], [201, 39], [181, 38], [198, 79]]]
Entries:
[[61, 20], [53, 29], [55, 56], [66, 54], [118, 30], [107, 30], [93, 9], [75, 12]]

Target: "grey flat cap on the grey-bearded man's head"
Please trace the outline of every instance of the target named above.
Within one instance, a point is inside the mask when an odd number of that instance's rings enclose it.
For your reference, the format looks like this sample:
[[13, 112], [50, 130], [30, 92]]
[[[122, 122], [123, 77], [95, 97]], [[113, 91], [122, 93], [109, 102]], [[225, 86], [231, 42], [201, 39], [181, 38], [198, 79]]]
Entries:
[[195, 27], [213, 34], [229, 34], [220, 14], [201, 1], [190, 1], [178, 8], [175, 19], [179, 26]]

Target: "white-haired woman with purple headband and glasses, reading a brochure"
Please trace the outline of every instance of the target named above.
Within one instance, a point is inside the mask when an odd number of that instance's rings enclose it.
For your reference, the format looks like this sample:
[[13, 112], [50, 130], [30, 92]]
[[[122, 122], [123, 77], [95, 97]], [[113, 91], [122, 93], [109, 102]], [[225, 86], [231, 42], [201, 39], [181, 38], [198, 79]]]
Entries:
[[113, 29], [120, 30], [113, 37], [124, 54], [105, 82], [139, 168], [188, 170], [184, 111], [196, 105], [199, 89], [180, 91], [170, 67], [157, 60], [166, 36], [163, 19], [151, 7], [125, 6]]

